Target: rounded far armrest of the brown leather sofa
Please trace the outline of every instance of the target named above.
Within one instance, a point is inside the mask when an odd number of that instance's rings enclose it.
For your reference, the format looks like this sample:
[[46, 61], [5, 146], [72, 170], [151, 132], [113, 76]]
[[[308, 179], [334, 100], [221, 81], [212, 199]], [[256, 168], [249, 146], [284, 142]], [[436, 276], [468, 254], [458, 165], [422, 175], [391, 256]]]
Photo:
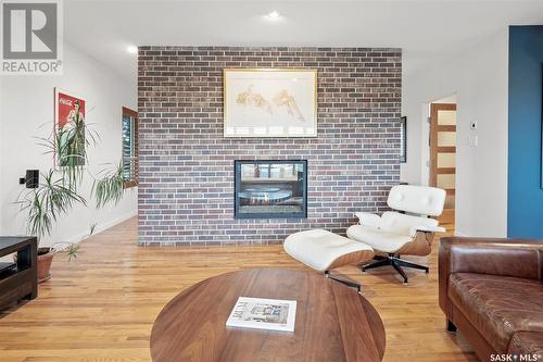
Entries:
[[439, 298], [451, 316], [449, 276], [476, 273], [543, 280], [543, 240], [494, 238], [441, 238], [439, 249]]

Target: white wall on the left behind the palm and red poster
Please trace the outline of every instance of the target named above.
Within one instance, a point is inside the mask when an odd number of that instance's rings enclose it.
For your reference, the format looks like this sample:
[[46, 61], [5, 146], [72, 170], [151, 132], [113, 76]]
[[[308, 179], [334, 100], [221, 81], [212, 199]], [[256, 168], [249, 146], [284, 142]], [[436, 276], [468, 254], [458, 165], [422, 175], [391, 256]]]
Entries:
[[[18, 178], [27, 168], [47, 172], [52, 166], [51, 155], [34, 137], [47, 137], [53, 127], [53, 89], [60, 87], [87, 100], [86, 121], [93, 124], [101, 137], [97, 147], [89, 149], [89, 172], [96, 174], [121, 160], [122, 107], [136, 109], [137, 90], [112, 70], [70, 45], [64, 48], [62, 76], [3, 76], [1, 78], [0, 113], [0, 234], [25, 234], [24, 215], [13, 204], [25, 190]], [[137, 212], [137, 189], [125, 192], [116, 207], [97, 211], [89, 194], [92, 182], [86, 176], [81, 194], [89, 205], [75, 207], [62, 216], [52, 236], [42, 245], [75, 241], [97, 223], [97, 230], [126, 220]]]

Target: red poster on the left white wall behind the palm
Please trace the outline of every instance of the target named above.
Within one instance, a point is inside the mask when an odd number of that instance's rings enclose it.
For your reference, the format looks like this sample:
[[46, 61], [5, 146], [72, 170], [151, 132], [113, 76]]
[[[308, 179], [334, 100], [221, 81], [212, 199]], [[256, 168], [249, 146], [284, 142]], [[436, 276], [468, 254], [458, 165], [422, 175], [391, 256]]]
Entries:
[[70, 163], [85, 165], [86, 111], [87, 102], [83, 97], [54, 88], [55, 158], [59, 166]]

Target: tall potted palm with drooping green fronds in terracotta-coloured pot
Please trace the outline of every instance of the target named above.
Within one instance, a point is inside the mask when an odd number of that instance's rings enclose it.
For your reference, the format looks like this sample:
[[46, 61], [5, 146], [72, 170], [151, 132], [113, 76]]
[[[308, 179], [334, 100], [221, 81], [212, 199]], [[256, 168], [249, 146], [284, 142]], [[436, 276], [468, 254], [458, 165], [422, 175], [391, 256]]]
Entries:
[[[61, 215], [67, 214], [76, 204], [86, 207], [87, 200], [79, 194], [79, 186], [88, 174], [92, 178], [91, 197], [97, 209], [109, 202], [117, 203], [124, 194], [123, 164], [103, 170], [98, 176], [85, 173], [88, 164], [87, 149], [96, 146], [98, 135], [89, 129], [83, 117], [73, 117], [68, 127], [58, 129], [48, 138], [40, 138], [46, 153], [53, 155], [55, 166], [41, 173], [41, 182], [36, 188], [21, 194], [17, 203], [27, 215], [27, 230], [39, 240], [51, 235], [53, 225]], [[89, 235], [93, 233], [91, 226]], [[68, 261], [77, 258], [79, 246], [73, 242], [54, 242], [50, 247], [38, 248], [38, 282], [50, 277], [50, 267], [58, 247], [65, 250]]]

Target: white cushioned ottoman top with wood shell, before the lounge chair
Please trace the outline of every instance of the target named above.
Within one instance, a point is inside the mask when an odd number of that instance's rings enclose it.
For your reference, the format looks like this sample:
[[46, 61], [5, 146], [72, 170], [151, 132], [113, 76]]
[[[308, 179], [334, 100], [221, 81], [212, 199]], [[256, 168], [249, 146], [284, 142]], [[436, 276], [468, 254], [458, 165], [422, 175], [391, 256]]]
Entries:
[[324, 229], [294, 233], [282, 247], [289, 255], [319, 272], [362, 263], [375, 255], [370, 246]]

